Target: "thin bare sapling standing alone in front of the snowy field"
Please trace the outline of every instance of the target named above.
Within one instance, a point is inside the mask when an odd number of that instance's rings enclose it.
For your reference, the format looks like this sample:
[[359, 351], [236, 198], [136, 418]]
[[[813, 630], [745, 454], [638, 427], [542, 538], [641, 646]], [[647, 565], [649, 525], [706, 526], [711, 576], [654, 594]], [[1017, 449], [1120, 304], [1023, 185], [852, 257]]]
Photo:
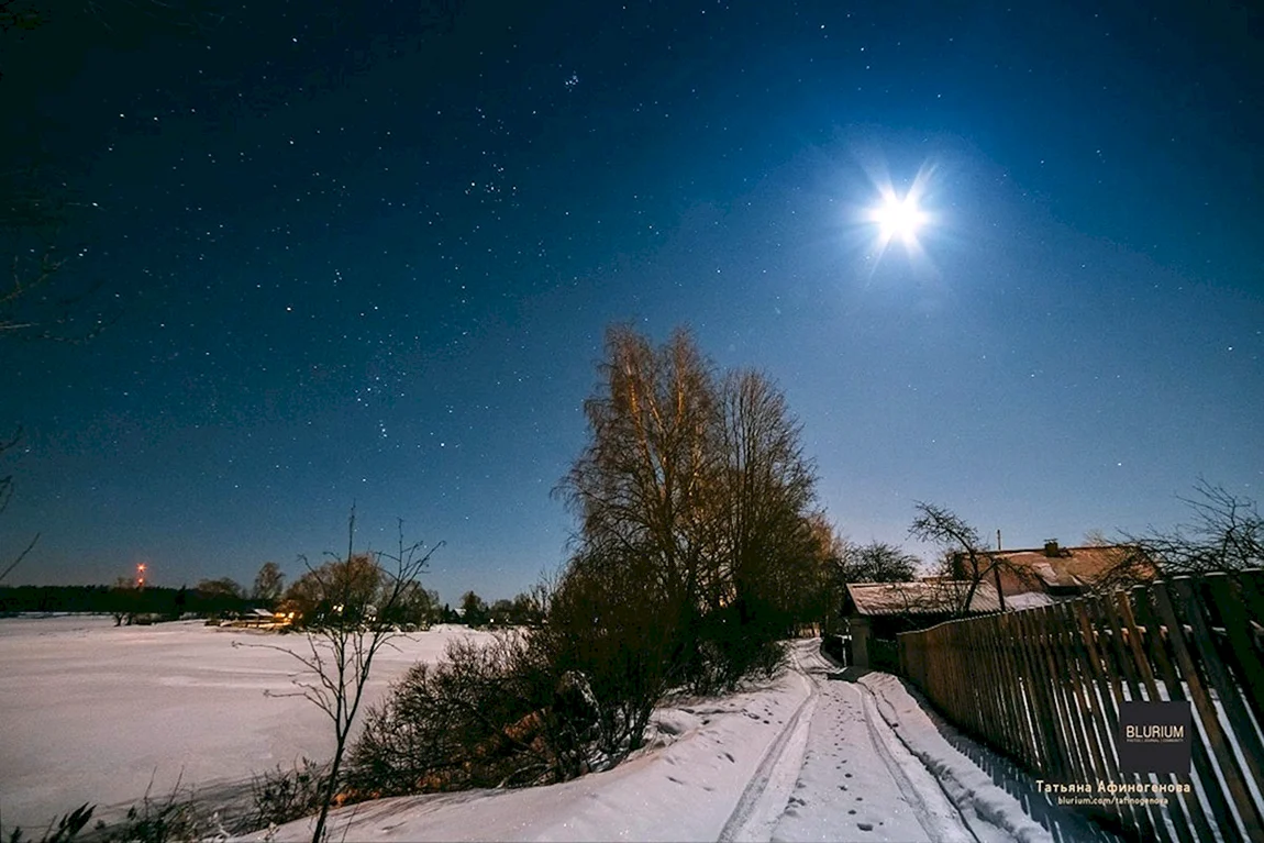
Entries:
[[306, 650], [262, 645], [288, 653], [303, 666], [303, 676], [295, 680], [300, 689], [297, 694], [311, 700], [334, 725], [334, 760], [312, 830], [312, 843], [324, 843], [343, 756], [364, 700], [373, 658], [392, 638], [403, 634], [396, 626], [397, 609], [431, 556], [444, 546], [439, 542], [423, 551], [422, 542], [406, 545], [401, 521], [397, 552], [356, 554], [354, 507], [346, 532], [345, 559], [335, 557], [331, 564], [313, 567], [301, 557], [307, 566], [305, 579], [311, 578], [317, 590], [319, 605], [327, 607], [319, 617], [306, 622]]

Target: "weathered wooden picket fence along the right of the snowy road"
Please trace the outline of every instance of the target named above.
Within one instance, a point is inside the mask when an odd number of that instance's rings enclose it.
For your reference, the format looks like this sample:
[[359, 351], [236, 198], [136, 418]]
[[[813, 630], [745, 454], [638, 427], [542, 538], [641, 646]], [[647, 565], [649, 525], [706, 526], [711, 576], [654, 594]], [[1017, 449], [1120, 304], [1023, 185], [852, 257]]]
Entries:
[[[1261, 622], [1264, 571], [1176, 578], [901, 633], [900, 671], [1038, 779], [1087, 784], [1079, 808], [1126, 837], [1264, 843]], [[1120, 703], [1169, 699], [1192, 704], [1191, 775], [1120, 772]]]

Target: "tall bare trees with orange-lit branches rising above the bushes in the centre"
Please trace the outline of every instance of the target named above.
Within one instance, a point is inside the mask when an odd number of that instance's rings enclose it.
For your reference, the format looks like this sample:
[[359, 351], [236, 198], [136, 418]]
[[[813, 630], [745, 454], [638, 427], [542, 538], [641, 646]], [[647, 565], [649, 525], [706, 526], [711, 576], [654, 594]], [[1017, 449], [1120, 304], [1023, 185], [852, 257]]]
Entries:
[[767, 377], [718, 377], [683, 329], [656, 346], [611, 327], [599, 372], [590, 442], [559, 487], [580, 521], [568, 593], [614, 610], [636, 571], [671, 680], [728, 684], [818, 610], [799, 423]]

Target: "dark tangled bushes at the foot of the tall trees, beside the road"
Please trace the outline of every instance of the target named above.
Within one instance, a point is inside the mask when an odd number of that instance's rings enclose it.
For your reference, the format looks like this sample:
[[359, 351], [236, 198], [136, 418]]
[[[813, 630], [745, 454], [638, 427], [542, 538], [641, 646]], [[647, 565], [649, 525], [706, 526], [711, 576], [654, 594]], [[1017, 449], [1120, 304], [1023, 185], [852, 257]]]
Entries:
[[340, 799], [605, 770], [641, 747], [669, 690], [732, 690], [781, 665], [776, 616], [681, 610], [651, 581], [635, 559], [573, 560], [540, 628], [498, 633], [488, 646], [454, 642], [444, 662], [415, 666], [368, 713]]

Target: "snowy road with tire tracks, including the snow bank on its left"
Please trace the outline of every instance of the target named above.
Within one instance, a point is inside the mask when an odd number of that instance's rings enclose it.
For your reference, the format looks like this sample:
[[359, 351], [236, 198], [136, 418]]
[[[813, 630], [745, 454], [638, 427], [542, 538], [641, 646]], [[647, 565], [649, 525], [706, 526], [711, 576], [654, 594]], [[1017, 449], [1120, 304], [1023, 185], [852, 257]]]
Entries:
[[[791, 657], [794, 669], [762, 690], [661, 710], [651, 746], [608, 772], [549, 787], [349, 806], [331, 814], [334, 837], [345, 830], [348, 840], [1105, 839], [1038, 804], [1002, 760], [942, 732], [894, 676], [844, 677], [813, 641], [795, 642]], [[1029, 809], [1042, 813], [1044, 825]], [[308, 823], [291, 823], [274, 839], [310, 839]], [[1057, 828], [1057, 837], [1047, 827]]]

